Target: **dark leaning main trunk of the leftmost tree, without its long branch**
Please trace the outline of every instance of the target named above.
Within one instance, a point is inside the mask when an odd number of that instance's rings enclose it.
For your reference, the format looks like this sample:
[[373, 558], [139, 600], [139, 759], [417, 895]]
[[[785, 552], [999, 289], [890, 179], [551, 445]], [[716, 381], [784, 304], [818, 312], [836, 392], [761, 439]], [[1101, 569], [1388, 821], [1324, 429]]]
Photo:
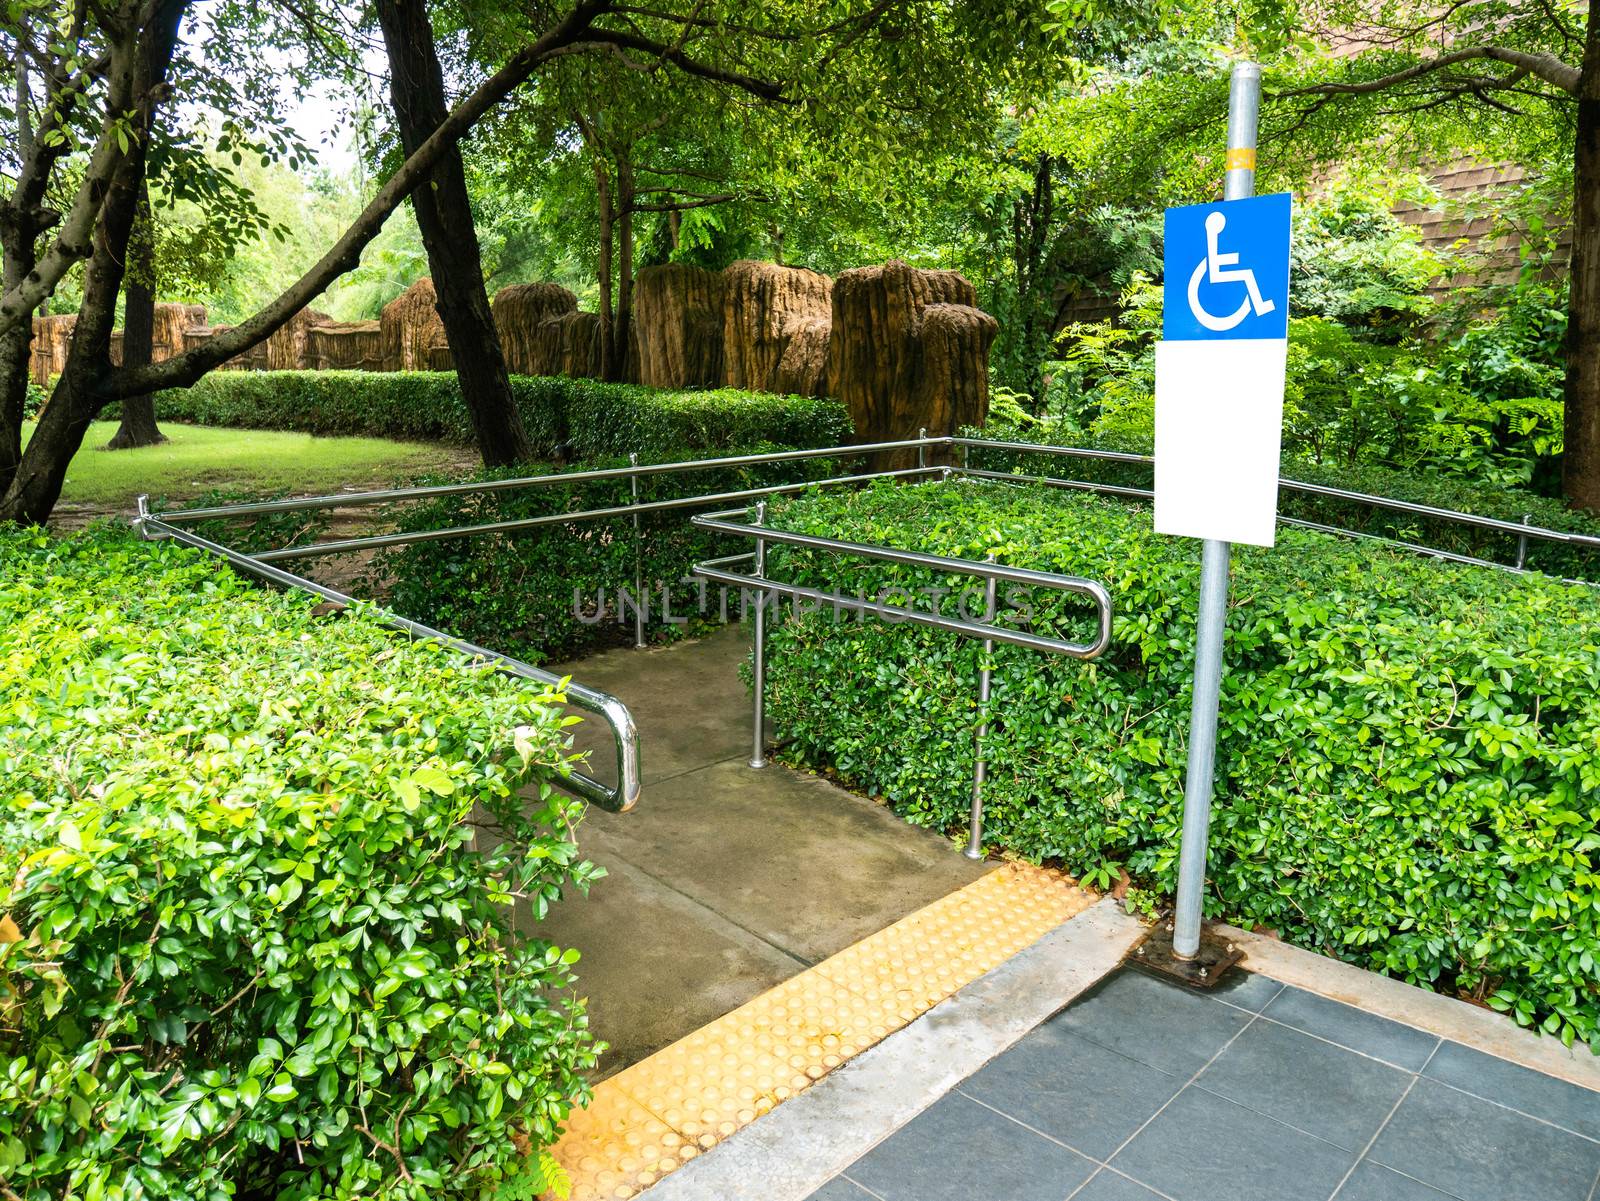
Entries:
[[50, 405], [38, 419], [10, 486], [0, 496], [0, 521], [45, 523], [61, 497], [67, 464], [106, 403], [99, 385], [112, 371], [110, 334], [117, 323], [117, 294], [122, 291], [139, 198], [144, 195], [144, 162], [160, 83], [166, 78], [178, 48], [181, 18], [181, 5], [158, 6], [142, 34], [134, 62], [133, 94], [139, 98], [139, 107], [130, 130], [133, 149], [106, 192], [94, 227], [94, 248], [83, 272], [83, 305], [72, 326], [72, 349]]

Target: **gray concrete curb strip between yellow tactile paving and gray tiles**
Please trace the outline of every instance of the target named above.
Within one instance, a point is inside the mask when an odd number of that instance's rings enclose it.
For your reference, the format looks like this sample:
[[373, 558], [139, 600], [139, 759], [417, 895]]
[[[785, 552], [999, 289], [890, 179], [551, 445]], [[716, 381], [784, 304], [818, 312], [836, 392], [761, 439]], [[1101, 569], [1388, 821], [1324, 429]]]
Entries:
[[1144, 928], [1110, 897], [648, 1190], [803, 1201], [1117, 968]]

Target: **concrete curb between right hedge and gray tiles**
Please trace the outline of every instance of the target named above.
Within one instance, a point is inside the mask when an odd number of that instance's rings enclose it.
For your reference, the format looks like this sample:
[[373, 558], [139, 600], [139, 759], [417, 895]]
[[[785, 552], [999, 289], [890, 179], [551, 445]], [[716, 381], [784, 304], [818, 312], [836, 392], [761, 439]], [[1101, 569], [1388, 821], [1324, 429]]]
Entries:
[[1555, 1038], [1518, 1027], [1504, 1014], [1478, 1009], [1454, 996], [1430, 993], [1413, 984], [1378, 976], [1277, 939], [1234, 926], [1218, 924], [1214, 929], [1243, 947], [1246, 971], [1462, 1043], [1474, 1051], [1533, 1071], [1600, 1091], [1600, 1055], [1587, 1046], [1562, 1046]]

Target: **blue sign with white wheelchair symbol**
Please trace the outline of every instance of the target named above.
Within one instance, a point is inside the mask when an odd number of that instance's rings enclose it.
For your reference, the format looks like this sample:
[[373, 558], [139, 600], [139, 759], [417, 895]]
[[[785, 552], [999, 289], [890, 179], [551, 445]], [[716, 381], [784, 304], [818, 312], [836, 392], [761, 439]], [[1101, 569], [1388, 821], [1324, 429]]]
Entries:
[[1290, 194], [1166, 209], [1162, 336], [1288, 337]]

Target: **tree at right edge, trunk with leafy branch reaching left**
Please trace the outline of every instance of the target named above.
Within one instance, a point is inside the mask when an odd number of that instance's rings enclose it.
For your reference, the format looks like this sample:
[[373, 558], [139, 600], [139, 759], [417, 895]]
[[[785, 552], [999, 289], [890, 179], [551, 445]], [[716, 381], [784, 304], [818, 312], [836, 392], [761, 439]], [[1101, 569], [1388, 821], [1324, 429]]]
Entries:
[[[1573, 187], [1565, 454], [1570, 504], [1600, 512], [1600, 5], [1544, 0], [1334, 6], [1360, 53], [1288, 61], [1269, 93], [1267, 136], [1322, 150], [1408, 136], [1458, 146], [1568, 146]], [[1374, 136], [1376, 134], [1376, 136]]]

